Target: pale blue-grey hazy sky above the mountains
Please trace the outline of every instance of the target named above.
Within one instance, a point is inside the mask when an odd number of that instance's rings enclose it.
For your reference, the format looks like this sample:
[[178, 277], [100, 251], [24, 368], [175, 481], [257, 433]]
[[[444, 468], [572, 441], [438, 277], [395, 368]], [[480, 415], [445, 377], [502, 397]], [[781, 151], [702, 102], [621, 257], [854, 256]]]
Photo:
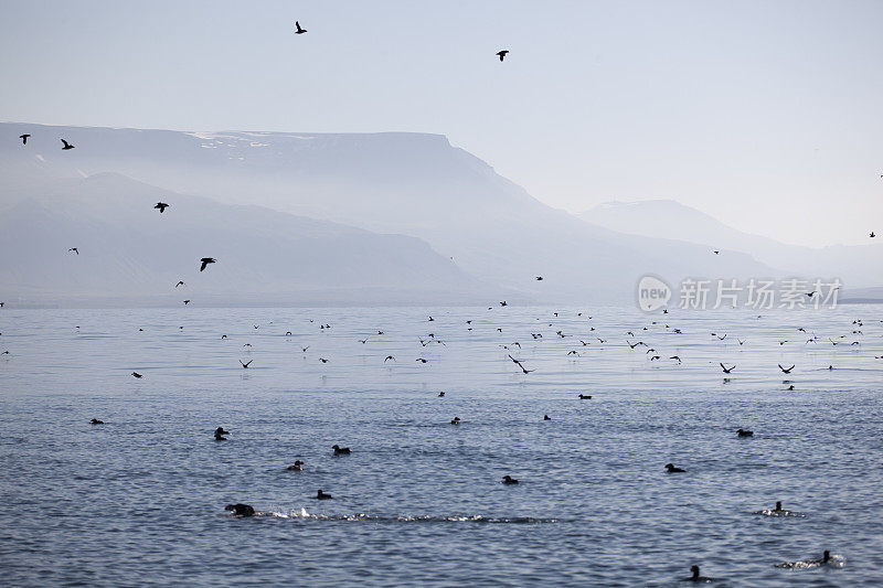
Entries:
[[7, 121], [437, 132], [574, 212], [672, 197], [791, 243], [883, 234], [880, 0], [0, 7]]

